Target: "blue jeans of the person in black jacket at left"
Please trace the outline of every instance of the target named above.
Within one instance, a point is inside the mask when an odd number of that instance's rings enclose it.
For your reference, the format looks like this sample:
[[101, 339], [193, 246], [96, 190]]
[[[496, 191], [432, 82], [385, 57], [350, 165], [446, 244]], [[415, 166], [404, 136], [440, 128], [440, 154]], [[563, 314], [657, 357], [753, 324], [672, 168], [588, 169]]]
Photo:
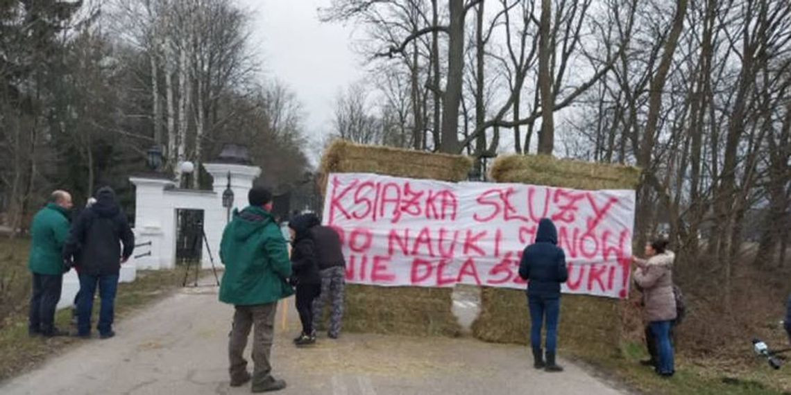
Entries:
[[89, 274], [80, 274], [80, 297], [77, 309], [77, 332], [80, 336], [88, 336], [91, 333], [93, 295], [96, 295], [97, 285], [101, 299], [97, 329], [103, 335], [112, 332], [112, 322], [115, 318], [115, 292], [118, 290], [118, 275], [91, 276]]

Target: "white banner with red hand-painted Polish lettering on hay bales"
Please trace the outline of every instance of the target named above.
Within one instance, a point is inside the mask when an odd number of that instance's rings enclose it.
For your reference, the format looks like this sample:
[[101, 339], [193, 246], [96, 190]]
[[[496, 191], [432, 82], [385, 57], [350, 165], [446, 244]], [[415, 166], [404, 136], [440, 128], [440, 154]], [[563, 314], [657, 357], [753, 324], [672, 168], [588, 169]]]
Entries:
[[558, 228], [563, 292], [626, 298], [634, 190], [331, 174], [324, 224], [339, 231], [346, 280], [380, 286], [520, 288], [539, 220]]

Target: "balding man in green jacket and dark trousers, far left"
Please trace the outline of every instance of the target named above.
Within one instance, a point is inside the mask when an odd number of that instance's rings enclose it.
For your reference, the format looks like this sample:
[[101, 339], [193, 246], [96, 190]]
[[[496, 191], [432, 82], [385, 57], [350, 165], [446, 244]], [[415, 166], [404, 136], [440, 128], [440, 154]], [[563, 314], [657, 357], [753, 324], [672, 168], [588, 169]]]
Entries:
[[30, 298], [28, 333], [30, 336], [66, 336], [55, 327], [55, 307], [60, 300], [63, 273], [63, 244], [69, 235], [71, 195], [63, 190], [51, 194], [49, 203], [33, 217], [32, 243], [28, 268], [32, 272], [33, 287]]

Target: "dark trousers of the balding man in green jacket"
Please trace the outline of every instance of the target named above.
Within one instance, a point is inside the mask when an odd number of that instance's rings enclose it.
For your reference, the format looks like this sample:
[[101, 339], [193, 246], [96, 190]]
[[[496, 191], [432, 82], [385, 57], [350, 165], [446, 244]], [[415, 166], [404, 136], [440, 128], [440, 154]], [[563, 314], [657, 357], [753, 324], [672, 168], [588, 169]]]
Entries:
[[60, 301], [63, 275], [33, 273], [30, 296], [28, 331], [30, 333], [52, 333], [55, 329], [55, 308]]

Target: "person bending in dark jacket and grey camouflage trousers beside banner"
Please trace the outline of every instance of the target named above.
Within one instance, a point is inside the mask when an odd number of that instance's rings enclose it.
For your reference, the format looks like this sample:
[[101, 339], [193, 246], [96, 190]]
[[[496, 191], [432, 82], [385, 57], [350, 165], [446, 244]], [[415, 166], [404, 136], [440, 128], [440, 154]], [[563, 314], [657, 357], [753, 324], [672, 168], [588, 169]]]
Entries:
[[[310, 214], [319, 222], [318, 217]], [[327, 336], [337, 339], [343, 322], [343, 296], [346, 288], [346, 259], [343, 258], [341, 238], [335, 229], [316, 225], [310, 229], [316, 246], [316, 258], [321, 273], [321, 294], [313, 302], [313, 322], [324, 318], [324, 303], [331, 300], [330, 326]]]

